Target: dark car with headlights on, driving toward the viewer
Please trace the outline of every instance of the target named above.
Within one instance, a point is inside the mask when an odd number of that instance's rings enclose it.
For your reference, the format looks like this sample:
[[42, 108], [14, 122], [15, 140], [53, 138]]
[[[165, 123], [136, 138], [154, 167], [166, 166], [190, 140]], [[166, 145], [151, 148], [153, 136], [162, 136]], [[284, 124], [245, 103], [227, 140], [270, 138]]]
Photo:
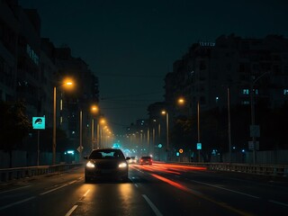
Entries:
[[92, 180], [121, 180], [127, 182], [128, 163], [130, 157], [124, 157], [121, 149], [98, 148], [94, 149], [89, 157], [85, 157], [85, 182]]

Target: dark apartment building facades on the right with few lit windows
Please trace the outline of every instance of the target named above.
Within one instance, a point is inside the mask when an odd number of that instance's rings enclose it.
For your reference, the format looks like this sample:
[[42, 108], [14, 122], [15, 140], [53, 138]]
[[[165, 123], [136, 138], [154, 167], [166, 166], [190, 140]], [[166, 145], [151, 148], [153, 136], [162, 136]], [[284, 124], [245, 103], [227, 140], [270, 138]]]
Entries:
[[[198, 42], [166, 75], [166, 103], [171, 107], [184, 96], [190, 115], [202, 111], [250, 105], [261, 101], [270, 108], [288, 102], [288, 39], [268, 35], [264, 39], [220, 36], [215, 42]], [[229, 92], [229, 94], [228, 94]], [[174, 105], [175, 106], [175, 105]]]

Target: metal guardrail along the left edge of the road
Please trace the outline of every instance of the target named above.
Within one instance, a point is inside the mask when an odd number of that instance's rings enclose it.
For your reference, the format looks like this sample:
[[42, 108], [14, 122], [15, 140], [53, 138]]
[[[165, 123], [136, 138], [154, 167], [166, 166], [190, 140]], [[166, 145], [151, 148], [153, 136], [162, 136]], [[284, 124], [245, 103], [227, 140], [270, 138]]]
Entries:
[[82, 164], [60, 164], [53, 166], [27, 166], [0, 169], [0, 182], [9, 182], [14, 179], [21, 179], [35, 175], [47, 175], [59, 172], [65, 172]]

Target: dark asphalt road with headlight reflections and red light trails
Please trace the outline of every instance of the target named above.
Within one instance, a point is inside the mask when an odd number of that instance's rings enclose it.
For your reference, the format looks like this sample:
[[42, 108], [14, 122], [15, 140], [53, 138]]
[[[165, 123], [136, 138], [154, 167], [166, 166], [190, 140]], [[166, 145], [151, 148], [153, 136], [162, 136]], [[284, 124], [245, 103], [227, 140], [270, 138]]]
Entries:
[[155, 163], [130, 165], [127, 183], [85, 184], [78, 168], [1, 184], [8, 215], [288, 215], [288, 180]]

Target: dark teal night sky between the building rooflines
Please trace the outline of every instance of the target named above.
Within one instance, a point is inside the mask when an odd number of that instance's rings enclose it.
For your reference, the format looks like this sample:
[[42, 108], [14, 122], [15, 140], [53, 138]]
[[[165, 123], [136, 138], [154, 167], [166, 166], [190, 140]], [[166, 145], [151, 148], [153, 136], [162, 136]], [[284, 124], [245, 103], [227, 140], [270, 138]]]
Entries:
[[147, 118], [163, 101], [164, 77], [199, 40], [288, 36], [286, 0], [19, 0], [35, 8], [41, 36], [72, 49], [99, 77], [111, 127]]

